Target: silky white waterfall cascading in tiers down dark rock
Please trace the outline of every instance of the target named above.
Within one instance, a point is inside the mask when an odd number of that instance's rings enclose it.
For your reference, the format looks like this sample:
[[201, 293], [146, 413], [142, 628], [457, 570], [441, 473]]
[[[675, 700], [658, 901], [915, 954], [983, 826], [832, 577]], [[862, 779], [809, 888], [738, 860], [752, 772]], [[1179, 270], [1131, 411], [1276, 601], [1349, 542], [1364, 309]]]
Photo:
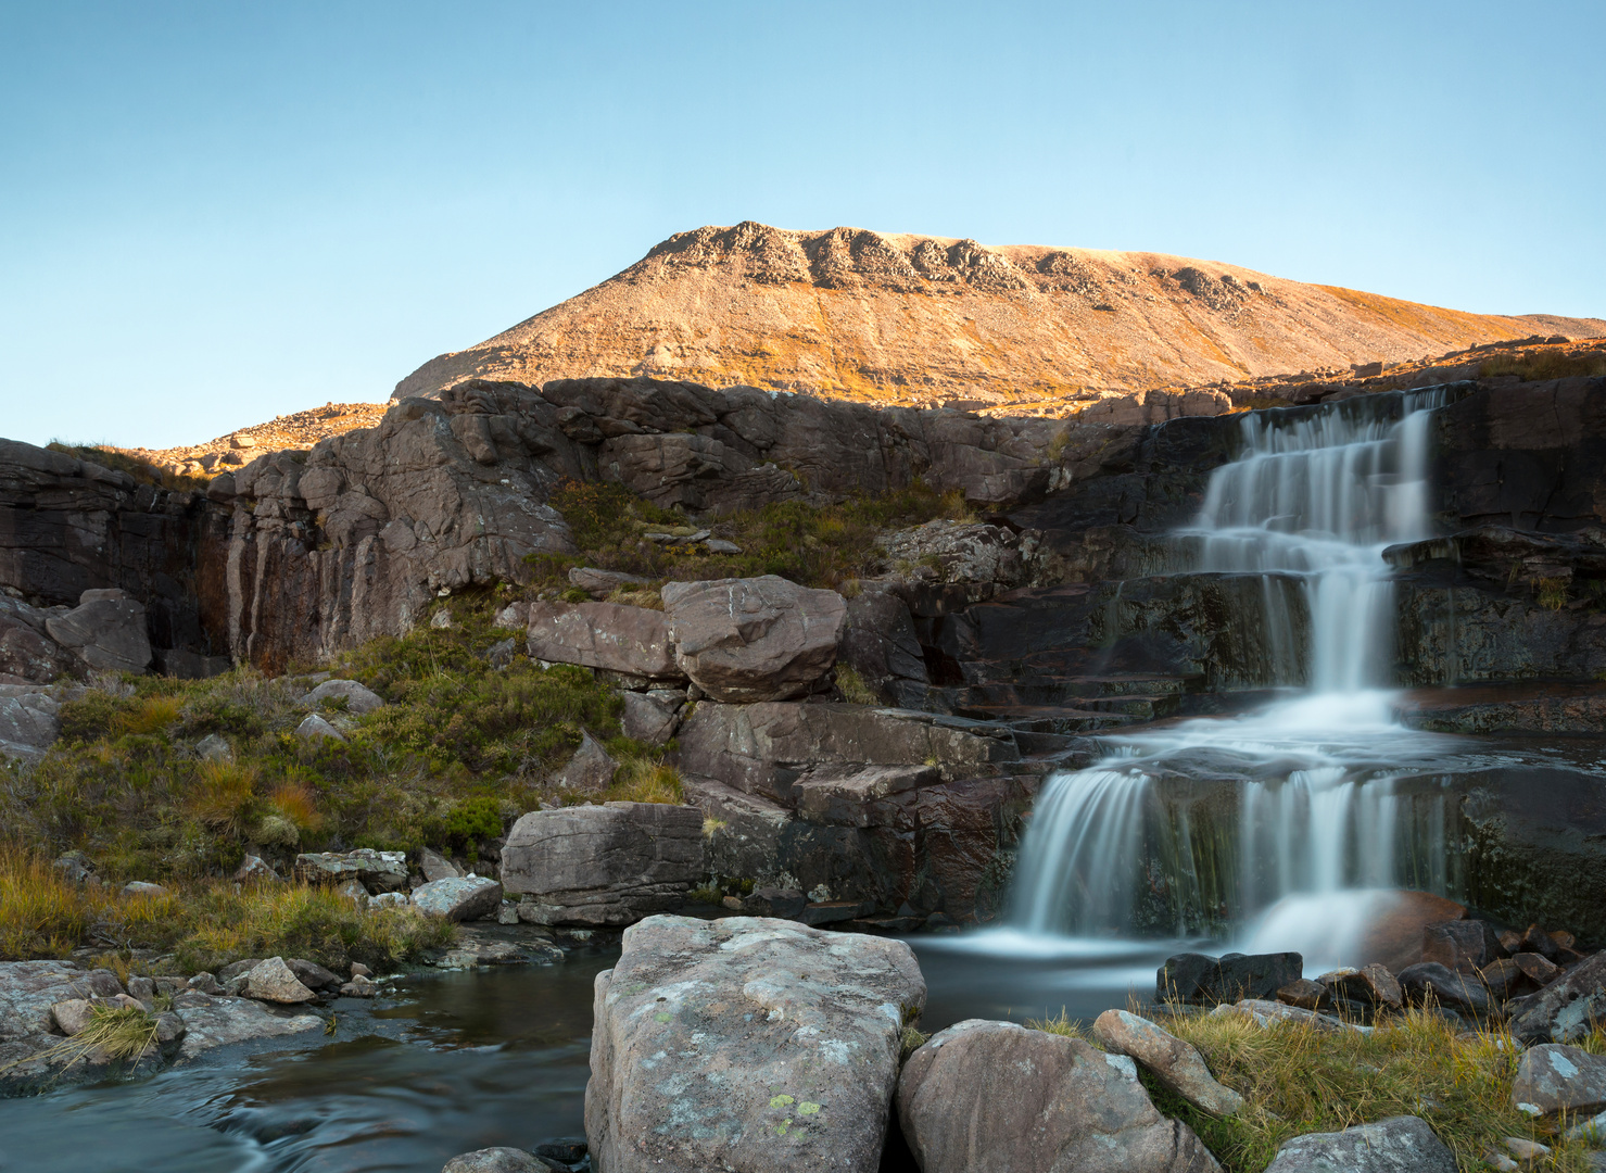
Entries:
[[[1105, 739], [1052, 776], [1021, 845], [1013, 922], [1076, 937], [1246, 934], [1256, 948], [1339, 961], [1396, 885], [1442, 887], [1442, 799], [1402, 794], [1444, 739], [1391, 717], [1394, 599], [1383, 550], [1431, 535], [1428, 411], [1351, 403], [1294, 421], [1243, 418], [1243, 455], [1211, 474], [1179, 537], [1198, 569], [1262, 575], [1267, 683], [1306, 693], [1257, 713]], [[1237, 816], [1193, 794], [1237, 779]], [[1203, 786], [1201, 786], [1203, 784]], [[1254, 918], [1259, 924], [1254, 926]], [[1163, 922], [1169, 921], [1169, 922]]]

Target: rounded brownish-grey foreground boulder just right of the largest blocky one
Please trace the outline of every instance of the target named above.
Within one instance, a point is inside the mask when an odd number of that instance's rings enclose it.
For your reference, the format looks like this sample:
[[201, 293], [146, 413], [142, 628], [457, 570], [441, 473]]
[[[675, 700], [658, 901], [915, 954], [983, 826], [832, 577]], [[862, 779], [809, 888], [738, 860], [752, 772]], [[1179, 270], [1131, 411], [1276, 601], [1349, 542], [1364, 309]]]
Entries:
[[925, 1173], [1221, 1168], [1187, 1125], [1160, 1115], [1131, 1059], [1013, 1022], [933, 1035], [904, 1064], [898, 1120]]

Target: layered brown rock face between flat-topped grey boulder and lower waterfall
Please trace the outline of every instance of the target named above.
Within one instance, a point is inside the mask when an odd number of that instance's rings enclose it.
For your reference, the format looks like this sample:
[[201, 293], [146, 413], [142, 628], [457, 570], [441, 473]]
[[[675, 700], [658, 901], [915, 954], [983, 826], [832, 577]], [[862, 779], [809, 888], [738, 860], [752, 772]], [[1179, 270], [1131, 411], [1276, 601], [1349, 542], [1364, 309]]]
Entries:
[[1036, 789], [1007, 726], [851, 704], [700, 702], [679, 768], [716, 874], [981, 919]]

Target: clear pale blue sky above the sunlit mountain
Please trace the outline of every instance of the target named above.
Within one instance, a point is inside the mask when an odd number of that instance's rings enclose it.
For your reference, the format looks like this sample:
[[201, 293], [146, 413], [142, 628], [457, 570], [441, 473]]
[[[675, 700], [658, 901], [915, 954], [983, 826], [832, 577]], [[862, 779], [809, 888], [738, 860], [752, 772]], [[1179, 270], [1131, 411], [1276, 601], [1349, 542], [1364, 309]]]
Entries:
[[1606, 317], [1606, 5], [0, 0], [0, 435], [382, 400], [761, 220]]

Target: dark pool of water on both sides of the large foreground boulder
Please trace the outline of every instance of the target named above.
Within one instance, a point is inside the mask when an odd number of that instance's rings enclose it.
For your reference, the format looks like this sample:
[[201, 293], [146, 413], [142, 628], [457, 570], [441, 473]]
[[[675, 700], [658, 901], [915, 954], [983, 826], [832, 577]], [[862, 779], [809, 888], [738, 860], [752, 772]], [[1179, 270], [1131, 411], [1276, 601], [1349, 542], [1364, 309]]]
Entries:
[[[1153, 991], [1164, 945], [917, 937], [925, 1030], [967, 1017], [1092, 1019]], [[0, 1099], [0, 1173], [438, 1173], [493, 1144], [583, 1128], [591, 982], [617, 951], [559, 966], [410, 979], [336, 1003], [312, 1033], [153, 1078]]]

